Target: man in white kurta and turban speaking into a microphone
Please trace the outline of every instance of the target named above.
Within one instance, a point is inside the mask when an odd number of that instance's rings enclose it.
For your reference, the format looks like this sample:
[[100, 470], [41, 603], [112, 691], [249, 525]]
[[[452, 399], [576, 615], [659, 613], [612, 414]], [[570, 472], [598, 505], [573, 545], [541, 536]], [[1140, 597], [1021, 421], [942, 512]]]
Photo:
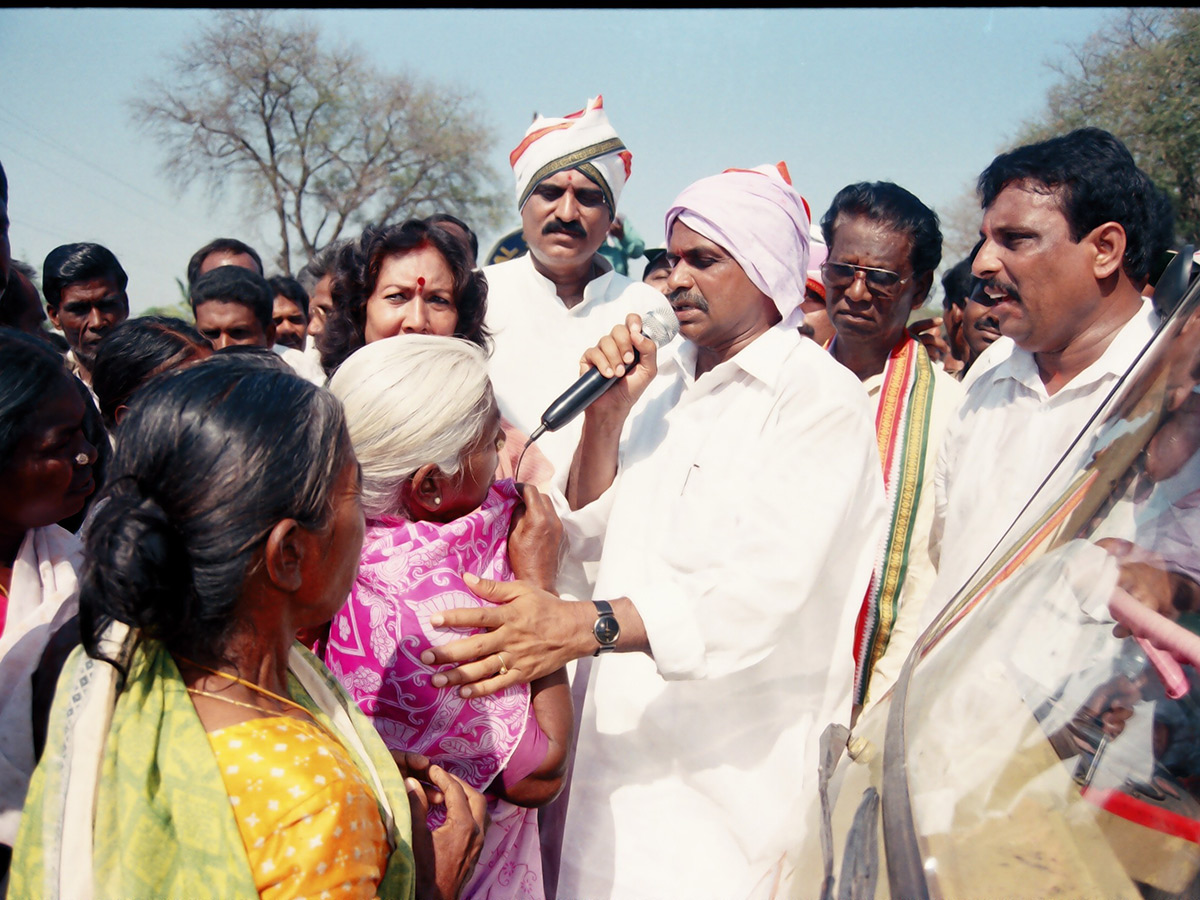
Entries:
[[583, 356], [619, 377], [584, 413], [564, 521], [574, 553], [599, 548], [598, 602], [468, 580], [500, 605], [440, 617], [486, 629], [427, 660], [462, 664], [434, 683], [469, 696], [599, 656], [559, 900], [782, 896], [814, 826], [884, 512], [870, 402], [797, 331], [809, 229], [782, 164], [676, 199], [686, 340], [659, 350], [630, 316]]

